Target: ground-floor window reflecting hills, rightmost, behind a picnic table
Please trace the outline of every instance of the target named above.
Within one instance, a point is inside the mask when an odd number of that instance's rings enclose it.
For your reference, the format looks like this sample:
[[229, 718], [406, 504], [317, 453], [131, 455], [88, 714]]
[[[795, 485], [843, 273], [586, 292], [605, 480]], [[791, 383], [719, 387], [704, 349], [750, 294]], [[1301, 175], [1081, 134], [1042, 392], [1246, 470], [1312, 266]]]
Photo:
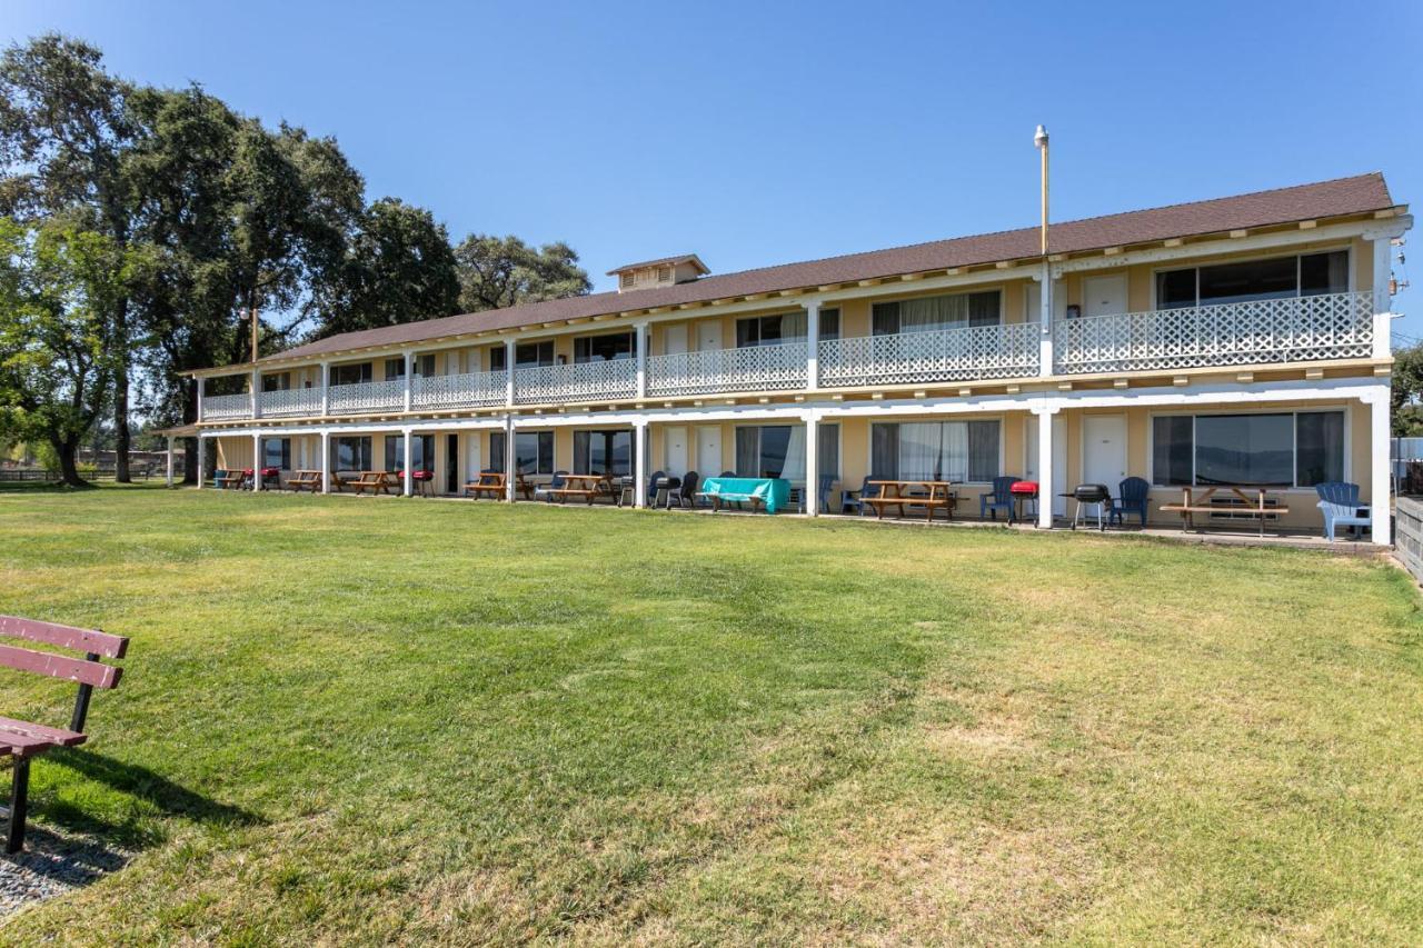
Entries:
[[1343, 413], [1157, 416], [1151, 480], [1164, 487], [1313, 487], [1343, 480]]

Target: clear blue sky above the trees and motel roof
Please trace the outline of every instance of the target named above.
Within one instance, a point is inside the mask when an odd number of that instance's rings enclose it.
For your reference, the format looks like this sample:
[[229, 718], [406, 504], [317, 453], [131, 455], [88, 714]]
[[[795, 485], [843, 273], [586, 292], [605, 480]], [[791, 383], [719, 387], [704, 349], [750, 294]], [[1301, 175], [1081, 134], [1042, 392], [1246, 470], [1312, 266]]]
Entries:
[[[1423, 208], [1417, 3], [7, 0], [111, 68], [334, 135], [371, 198], [714, 272], [1383, 171]], [[1423, 252], [1423, 249], [1420, 249]], [[1423, 260], [1423, 258], [1420, 258]], [[1402, 272], [1400, 272], [1402, 275]], [[1419, 270], [1423, 279], [1423, 269]], [[1407, 310], [1414, 290], [1399, 297]], [[1396, 323], [1423, 336], [1423, 313]]]

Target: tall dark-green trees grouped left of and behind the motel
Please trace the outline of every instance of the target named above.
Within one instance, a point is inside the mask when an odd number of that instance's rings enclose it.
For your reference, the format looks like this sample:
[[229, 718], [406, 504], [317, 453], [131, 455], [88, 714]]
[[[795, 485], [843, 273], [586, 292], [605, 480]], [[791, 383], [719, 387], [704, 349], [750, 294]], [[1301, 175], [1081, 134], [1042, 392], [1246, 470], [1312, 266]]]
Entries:
[[131, 420], [196, 418], [181, 373], [333, 333], [588, 293], [565, 243], [471, 233], [367, 204], [334, 138], [268, 128], [201, 85], [108, 73], [50, 34], [0, 56], [0, 438], [44, 443], [63, 480]]

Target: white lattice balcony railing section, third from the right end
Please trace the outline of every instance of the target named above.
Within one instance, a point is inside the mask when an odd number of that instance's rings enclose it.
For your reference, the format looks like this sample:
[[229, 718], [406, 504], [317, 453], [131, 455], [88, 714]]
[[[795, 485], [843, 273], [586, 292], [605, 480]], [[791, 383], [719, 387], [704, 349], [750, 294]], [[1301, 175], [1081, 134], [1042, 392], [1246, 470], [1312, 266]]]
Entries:
[[805, 342], [709, 349], [647, 359], [647, 394], [777, 391], [805, 387]]

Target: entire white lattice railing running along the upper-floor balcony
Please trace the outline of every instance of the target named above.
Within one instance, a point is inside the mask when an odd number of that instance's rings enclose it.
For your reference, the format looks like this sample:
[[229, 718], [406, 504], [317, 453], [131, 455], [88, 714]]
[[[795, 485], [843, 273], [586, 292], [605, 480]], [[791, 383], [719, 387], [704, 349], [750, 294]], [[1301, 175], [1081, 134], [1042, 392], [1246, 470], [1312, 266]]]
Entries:
[[[1387, 353], [1373, 293], [1326, 293], [925, 332], [265, 391], [260, 417], [593, 404], [1369, 359]], [[1050, 344], [1044, 346], [1044, 342]], [[1382, 342], [1382, 346], [1380, 346]], [[1044, 356], [1050, 362], [1044, 364]], [[206, 396], [203, 421], [252, 417], [249, 394]]]

